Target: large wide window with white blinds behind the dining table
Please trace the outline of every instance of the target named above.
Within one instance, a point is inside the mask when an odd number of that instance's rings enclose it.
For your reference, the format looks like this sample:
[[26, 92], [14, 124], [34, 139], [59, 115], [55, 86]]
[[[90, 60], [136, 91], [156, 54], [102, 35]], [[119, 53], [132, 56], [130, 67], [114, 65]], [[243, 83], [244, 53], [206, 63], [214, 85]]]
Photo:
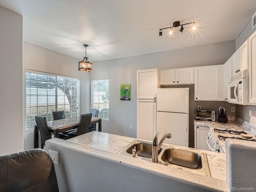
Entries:
[[52, 121], [52, 111], [66, 118], [80, 116], [80, 79], [26, 71], [25, 132], [34, 130], [35, 116]]

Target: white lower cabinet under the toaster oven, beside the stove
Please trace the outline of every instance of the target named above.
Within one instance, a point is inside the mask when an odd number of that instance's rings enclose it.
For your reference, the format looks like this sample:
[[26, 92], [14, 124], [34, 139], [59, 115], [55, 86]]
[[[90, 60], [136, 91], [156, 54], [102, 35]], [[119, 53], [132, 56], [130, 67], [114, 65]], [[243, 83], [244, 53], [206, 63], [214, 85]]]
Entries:
[[209, 126], [198, 126], [195, 125], [195, 148], [208, 150], [206, 143], [206, 137], [208, 136], [210, 128]]

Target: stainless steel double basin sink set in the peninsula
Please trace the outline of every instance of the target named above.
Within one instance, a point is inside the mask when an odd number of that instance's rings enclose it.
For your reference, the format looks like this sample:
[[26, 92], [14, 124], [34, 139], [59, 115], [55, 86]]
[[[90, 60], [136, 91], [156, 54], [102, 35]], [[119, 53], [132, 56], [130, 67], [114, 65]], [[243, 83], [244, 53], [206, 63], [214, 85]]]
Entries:
[[[134, 147], [136, 147], [136, 158], [152, 161], [152, 143], [150, 142], [135, 140], [118, 153], [132, 157]], [[158, 153], [158, 161], [165, 166], [211, 176], [206, 153], [200, 150], [163, 144]]]

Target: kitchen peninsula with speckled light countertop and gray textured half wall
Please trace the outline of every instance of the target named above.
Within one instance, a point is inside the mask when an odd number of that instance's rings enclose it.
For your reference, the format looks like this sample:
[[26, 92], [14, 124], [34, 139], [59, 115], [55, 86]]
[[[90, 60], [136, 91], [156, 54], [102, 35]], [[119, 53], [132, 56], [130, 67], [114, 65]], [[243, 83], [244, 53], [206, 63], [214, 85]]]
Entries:
[[136, 138], [90, 132], [69, 140], [46, 141], [59, 152], [55, 165], [61, 191], [229, 191], [226, 154], [208, 152], [212, 177], [118, 154]]

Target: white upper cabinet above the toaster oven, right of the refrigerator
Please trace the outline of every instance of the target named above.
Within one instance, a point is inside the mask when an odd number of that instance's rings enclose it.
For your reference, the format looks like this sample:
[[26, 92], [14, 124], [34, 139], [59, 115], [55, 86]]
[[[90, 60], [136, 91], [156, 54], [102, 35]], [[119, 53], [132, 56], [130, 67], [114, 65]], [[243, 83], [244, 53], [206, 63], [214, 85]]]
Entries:
[[195, 70], [195, 100], [223, 100], [223, 65]]

